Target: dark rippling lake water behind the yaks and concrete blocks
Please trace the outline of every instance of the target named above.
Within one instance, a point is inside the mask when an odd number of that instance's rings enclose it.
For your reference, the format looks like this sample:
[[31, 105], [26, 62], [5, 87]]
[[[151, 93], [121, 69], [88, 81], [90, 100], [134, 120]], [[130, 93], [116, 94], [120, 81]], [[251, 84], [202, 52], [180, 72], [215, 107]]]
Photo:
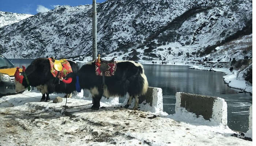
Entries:
[[[15, 66], [28, 66], [33, 59], [10, 59]], [[79, 64], [82, 66], [82, 64]], [[224, 84], [222, 72], [189, 69], [178, 65], [143, 65], [150, 87], [163, 90], [163, 110], [174, 114], [176, 92], [221, 97], [227, 102], [227, 125], [237, 131], [248, 130], [252, 96]]]

